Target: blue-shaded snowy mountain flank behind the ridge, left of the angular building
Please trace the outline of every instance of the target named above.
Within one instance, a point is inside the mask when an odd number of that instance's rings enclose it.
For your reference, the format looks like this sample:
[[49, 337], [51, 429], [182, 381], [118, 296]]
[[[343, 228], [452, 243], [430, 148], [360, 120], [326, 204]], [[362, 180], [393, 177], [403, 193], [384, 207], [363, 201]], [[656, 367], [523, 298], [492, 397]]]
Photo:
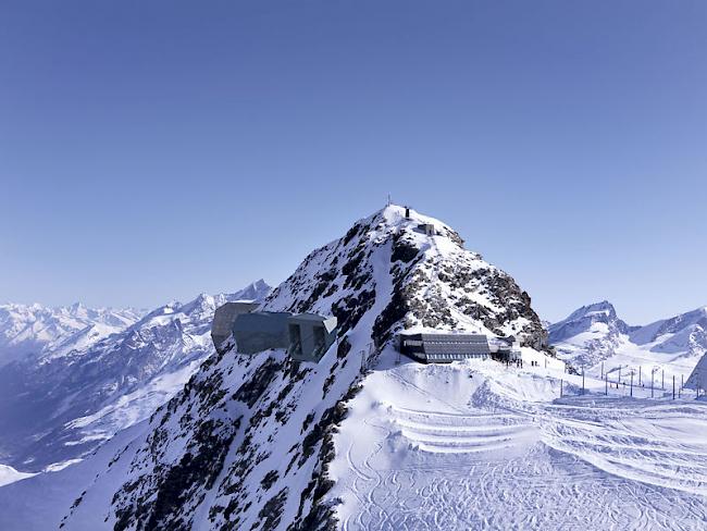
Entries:
[[[86, 336], [86, 328], [67, 331], [47, 342], [40, 356], [0, 368], [1, 461], [22, 471], [55, 469], [149, 417], [214, 351], [209, 331], [215, 308], [228, 300], [262, 300], [270, 289], [259, 281], [235, 294], [170, 302], [86, 343], [76, 338]], [[96, 317], [72, 308], [74, 320]], [[108, 316], [104, 321], [113, 322]]]

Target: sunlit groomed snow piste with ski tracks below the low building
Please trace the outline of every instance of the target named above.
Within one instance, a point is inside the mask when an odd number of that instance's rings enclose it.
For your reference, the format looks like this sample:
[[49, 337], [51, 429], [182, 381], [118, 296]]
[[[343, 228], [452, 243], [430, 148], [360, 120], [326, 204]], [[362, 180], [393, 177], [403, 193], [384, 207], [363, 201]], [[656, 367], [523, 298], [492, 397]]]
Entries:
[[342, 529], [706, 529], [707, 403], [584, 385], [382, 353], [335, 437]]

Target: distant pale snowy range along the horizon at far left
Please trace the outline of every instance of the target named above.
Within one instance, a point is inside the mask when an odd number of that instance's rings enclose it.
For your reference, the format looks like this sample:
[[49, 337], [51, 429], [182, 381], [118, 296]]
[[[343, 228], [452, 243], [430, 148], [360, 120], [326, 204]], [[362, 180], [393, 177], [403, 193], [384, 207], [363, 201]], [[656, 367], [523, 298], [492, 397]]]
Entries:
[[85, 350], [135, 323], [145, 312], [72, 306], [0, 305], [0, 367], [15, 359]]

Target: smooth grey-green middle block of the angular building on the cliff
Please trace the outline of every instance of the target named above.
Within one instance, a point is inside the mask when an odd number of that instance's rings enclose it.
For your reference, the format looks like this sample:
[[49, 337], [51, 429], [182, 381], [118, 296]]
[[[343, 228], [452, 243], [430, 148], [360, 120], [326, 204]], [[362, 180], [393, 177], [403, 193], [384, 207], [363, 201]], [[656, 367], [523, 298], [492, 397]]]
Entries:
[[233, 323], [233, 338], [238, 354], [258, 354], [271, 348], [287, 348], [289, 335], [286, 311], [240, 313]]

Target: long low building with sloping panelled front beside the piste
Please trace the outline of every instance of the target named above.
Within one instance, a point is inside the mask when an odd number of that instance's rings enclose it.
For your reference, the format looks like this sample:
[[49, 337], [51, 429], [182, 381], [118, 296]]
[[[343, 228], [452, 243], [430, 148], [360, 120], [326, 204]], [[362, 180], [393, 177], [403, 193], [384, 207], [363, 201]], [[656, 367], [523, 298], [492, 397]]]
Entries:
[[491, 356], [488, 339], [483, 334], [401, 333], [398, 335], [401, 354], [423, 363], [449, 363], [469, 358]]

